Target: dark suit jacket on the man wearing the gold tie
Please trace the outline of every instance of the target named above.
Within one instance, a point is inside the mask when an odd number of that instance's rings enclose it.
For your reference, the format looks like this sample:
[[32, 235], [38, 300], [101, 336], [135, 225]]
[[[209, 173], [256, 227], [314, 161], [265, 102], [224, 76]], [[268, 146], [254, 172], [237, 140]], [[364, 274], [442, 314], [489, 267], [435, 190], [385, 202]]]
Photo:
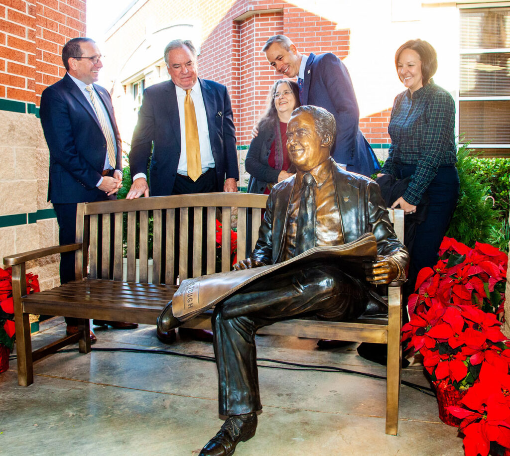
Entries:
[[[225, 179], [239, 179], [232, 105], [225, 86], [207, 79], [199, 78], [198, 81], [206, 106], [217, 190], [222, 192]], [[147, 173], [153, 143], [149, 170], [150, 195], [171, 195], [181, 155], [179, 109], [172, 81], [150, 86], [143, 92], [138, 123], [131, 142], [131, 176]]]

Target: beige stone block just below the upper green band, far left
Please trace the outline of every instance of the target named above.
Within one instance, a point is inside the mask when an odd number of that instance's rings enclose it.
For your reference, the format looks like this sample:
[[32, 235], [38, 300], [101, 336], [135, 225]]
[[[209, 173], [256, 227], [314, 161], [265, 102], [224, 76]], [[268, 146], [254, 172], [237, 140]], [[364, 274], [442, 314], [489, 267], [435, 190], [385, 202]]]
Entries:
[[36, 147], [39, 130], [40, 121], [33, 114], [0, 111], [0, 138], [3, 146]]

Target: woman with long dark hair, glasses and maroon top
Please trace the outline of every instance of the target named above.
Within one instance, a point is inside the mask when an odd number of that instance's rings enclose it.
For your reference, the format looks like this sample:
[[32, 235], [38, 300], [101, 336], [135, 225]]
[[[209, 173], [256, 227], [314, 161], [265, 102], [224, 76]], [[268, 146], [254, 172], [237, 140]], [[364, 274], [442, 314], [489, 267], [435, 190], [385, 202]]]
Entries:
[[287, 123], [300, 105], [299, 88], [290, 79], [278, 79], [259, 121], [259, 135], [251, 141], [245, 167], [250, 174], [248, 193], [269, 194], [276, 182], [292, 175], [287, 154]]

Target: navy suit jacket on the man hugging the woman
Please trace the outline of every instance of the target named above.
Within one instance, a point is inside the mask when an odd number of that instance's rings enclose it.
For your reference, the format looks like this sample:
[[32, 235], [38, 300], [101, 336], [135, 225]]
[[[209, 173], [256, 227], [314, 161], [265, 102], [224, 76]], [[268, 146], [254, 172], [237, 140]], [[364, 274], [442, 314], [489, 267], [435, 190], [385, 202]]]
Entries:
[[301, 104], [320, 106], [335, 116], [337, 139], [331, 149], [335, 162], [347, 171], [370, 177], [379, 162], [359, 129], [360, 110], [347, 68], [334, 54], [311, 53], [304, 70]]

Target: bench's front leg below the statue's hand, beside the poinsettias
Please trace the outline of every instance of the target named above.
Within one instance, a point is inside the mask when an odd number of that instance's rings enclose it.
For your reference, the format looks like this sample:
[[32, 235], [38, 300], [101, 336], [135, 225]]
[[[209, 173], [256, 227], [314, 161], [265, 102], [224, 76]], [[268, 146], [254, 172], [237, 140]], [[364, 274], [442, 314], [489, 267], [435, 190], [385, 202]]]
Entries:
[[[400, 347], [400, 326], [402, 319], [400, 293], [400, 287], [389, 287], [388, 363], [386, 366], [386, 434], [392, 436], [396, 436], [398, 432], [398, 400], [400, 394], [402, 358], [402, 350]], [[391, 305], [392, 301], [394, 305]]]

